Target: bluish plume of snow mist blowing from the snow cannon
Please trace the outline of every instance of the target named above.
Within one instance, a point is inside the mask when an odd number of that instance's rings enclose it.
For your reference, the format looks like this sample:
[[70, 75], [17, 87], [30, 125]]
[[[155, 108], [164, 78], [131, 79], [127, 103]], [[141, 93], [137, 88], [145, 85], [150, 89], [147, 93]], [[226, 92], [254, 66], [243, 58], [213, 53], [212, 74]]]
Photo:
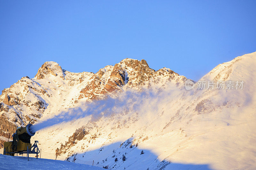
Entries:
[[142, 92], [127, 90], [121, 92], [117, 97], [108, 96], [105, 100], [98, 100], [92, 102], [85, 102], [79, 107], [70, 108], [66, 112], [61, 112], [52, 118], [37, 122], [33, 126], [34, 131], [50, 127], [59, 123], [70, 122], [92, 115], [92, 119], [98, 119], [100, 117], [108, 116], [115, 113], [122, 113], [124, 111], [133, 112], [147, 112], [157, 111], [158, 104], [170, 94], [166, 91], [149, 91], [144, 90]]

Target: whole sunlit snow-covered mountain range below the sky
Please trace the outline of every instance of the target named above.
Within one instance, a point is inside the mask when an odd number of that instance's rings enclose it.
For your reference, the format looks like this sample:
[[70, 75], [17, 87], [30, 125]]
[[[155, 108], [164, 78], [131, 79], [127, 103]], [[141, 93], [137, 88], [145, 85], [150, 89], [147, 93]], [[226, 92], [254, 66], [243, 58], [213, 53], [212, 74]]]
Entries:
[[113, 169], [255, 169], [255, 65], [256, 52], [236, 57], [186, 90], [186, 77], [145, 60], [95, 74], [46, 62], [35, 78], [2, 91], [0, 135], [51, 120], [33, 138], [69, 160]]

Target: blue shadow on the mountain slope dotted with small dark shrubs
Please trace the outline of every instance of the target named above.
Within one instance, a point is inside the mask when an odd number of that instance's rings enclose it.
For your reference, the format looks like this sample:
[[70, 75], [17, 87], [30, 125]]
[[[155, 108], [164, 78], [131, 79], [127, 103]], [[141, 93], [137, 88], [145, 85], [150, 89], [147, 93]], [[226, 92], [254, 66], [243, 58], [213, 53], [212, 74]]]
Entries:
[[[138, 145], [131, 146], [132, 138], [125, 142], [116, 142], [104, 145], [100, 149], [76, 154], [76, 159], [92, 161], [101, 165], [108, 165], [111, 169], [149, 169], [149, 170], [168, 170], [168, 169], [211, 169], [207, 164], [183, 164], [174, 163], [170, 160], [159, 160], [158, 155], [150, 150], [142, 149]], [[143, 150], [143, 154], [141, 154]], [[123, 160], [123, 155], [125, 160]], [[74, 156], [69, 158], [74, 161]]]

